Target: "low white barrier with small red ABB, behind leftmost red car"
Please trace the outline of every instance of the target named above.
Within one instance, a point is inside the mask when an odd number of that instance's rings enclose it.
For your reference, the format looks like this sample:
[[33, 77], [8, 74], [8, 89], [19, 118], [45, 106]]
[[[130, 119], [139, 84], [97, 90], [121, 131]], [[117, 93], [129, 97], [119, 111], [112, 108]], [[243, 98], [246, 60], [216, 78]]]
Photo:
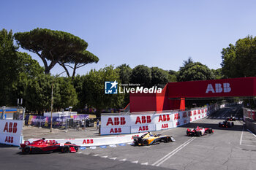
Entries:
[[[45, 139], [45, 140], [58, 142], [60, 144], [64, 144], [66, 142], [71, 142], [72, 144], [78, 144], [79, 146], [83, 146], [83, 147], [94, 147], [94, 146], [133, 142], [133, 136], [141, 136], [143, 134], [145, 134], [145, 133], [129, 134], [129, 135], [122, 135], [122, 136], [110, 136], [110, 137], [102, 137], [102, 138]], [[38, 139], [29, 139], [29, 142], [34, 142], [36, 140], [38, 140]]]

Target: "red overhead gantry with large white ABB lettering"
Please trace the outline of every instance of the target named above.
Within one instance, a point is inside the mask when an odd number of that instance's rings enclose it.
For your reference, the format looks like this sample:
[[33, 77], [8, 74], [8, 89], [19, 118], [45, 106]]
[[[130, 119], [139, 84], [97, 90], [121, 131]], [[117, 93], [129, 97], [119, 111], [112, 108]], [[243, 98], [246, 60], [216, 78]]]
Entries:
[[185, 98], [256, 96], [256, 77], [169, 82], [162, 93], [130, 93], [130, 112], [185, 109]]

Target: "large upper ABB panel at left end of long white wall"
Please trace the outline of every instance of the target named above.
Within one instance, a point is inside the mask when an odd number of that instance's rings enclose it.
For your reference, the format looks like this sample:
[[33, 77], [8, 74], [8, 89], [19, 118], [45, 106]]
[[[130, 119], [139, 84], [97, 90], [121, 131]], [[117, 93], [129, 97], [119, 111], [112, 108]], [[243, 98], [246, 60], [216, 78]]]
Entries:
[[127, 126], [130, 125], [130, 116], [129, 115], [120, 115], [120, 116], [101, 116], [101, 127], [112, 127], [112, 126]]

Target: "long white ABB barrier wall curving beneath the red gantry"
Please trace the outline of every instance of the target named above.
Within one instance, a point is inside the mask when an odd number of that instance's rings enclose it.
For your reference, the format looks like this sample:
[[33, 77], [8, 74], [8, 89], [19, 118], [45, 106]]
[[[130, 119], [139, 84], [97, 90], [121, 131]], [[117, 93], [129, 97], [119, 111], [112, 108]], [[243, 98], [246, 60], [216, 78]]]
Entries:
[[170, 111], [146, 115], [102, 115], [100, 134], [132, 134], [176, 128], [202, 119], [219, 109], [217, 104], [186, 111]]

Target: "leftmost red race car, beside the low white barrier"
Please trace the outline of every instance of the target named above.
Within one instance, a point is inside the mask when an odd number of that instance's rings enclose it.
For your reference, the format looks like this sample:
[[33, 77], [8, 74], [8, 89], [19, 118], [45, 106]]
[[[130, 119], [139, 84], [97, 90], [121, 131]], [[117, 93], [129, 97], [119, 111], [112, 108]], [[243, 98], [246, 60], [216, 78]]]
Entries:
[[61, 151], [63, 153], [68, 152], [78, 152], [78, 145], [71, 144], [70, 142], [66, 142], [64, 144], [59, 144], [55, 141], [47, 141], [45, 138], [39, 139], [30, 143], [29, 141], [25, 141], [24, 144], [20, 144], [20, 149], [23, 154], [29, 154], [33, 152], [58, 152]]

